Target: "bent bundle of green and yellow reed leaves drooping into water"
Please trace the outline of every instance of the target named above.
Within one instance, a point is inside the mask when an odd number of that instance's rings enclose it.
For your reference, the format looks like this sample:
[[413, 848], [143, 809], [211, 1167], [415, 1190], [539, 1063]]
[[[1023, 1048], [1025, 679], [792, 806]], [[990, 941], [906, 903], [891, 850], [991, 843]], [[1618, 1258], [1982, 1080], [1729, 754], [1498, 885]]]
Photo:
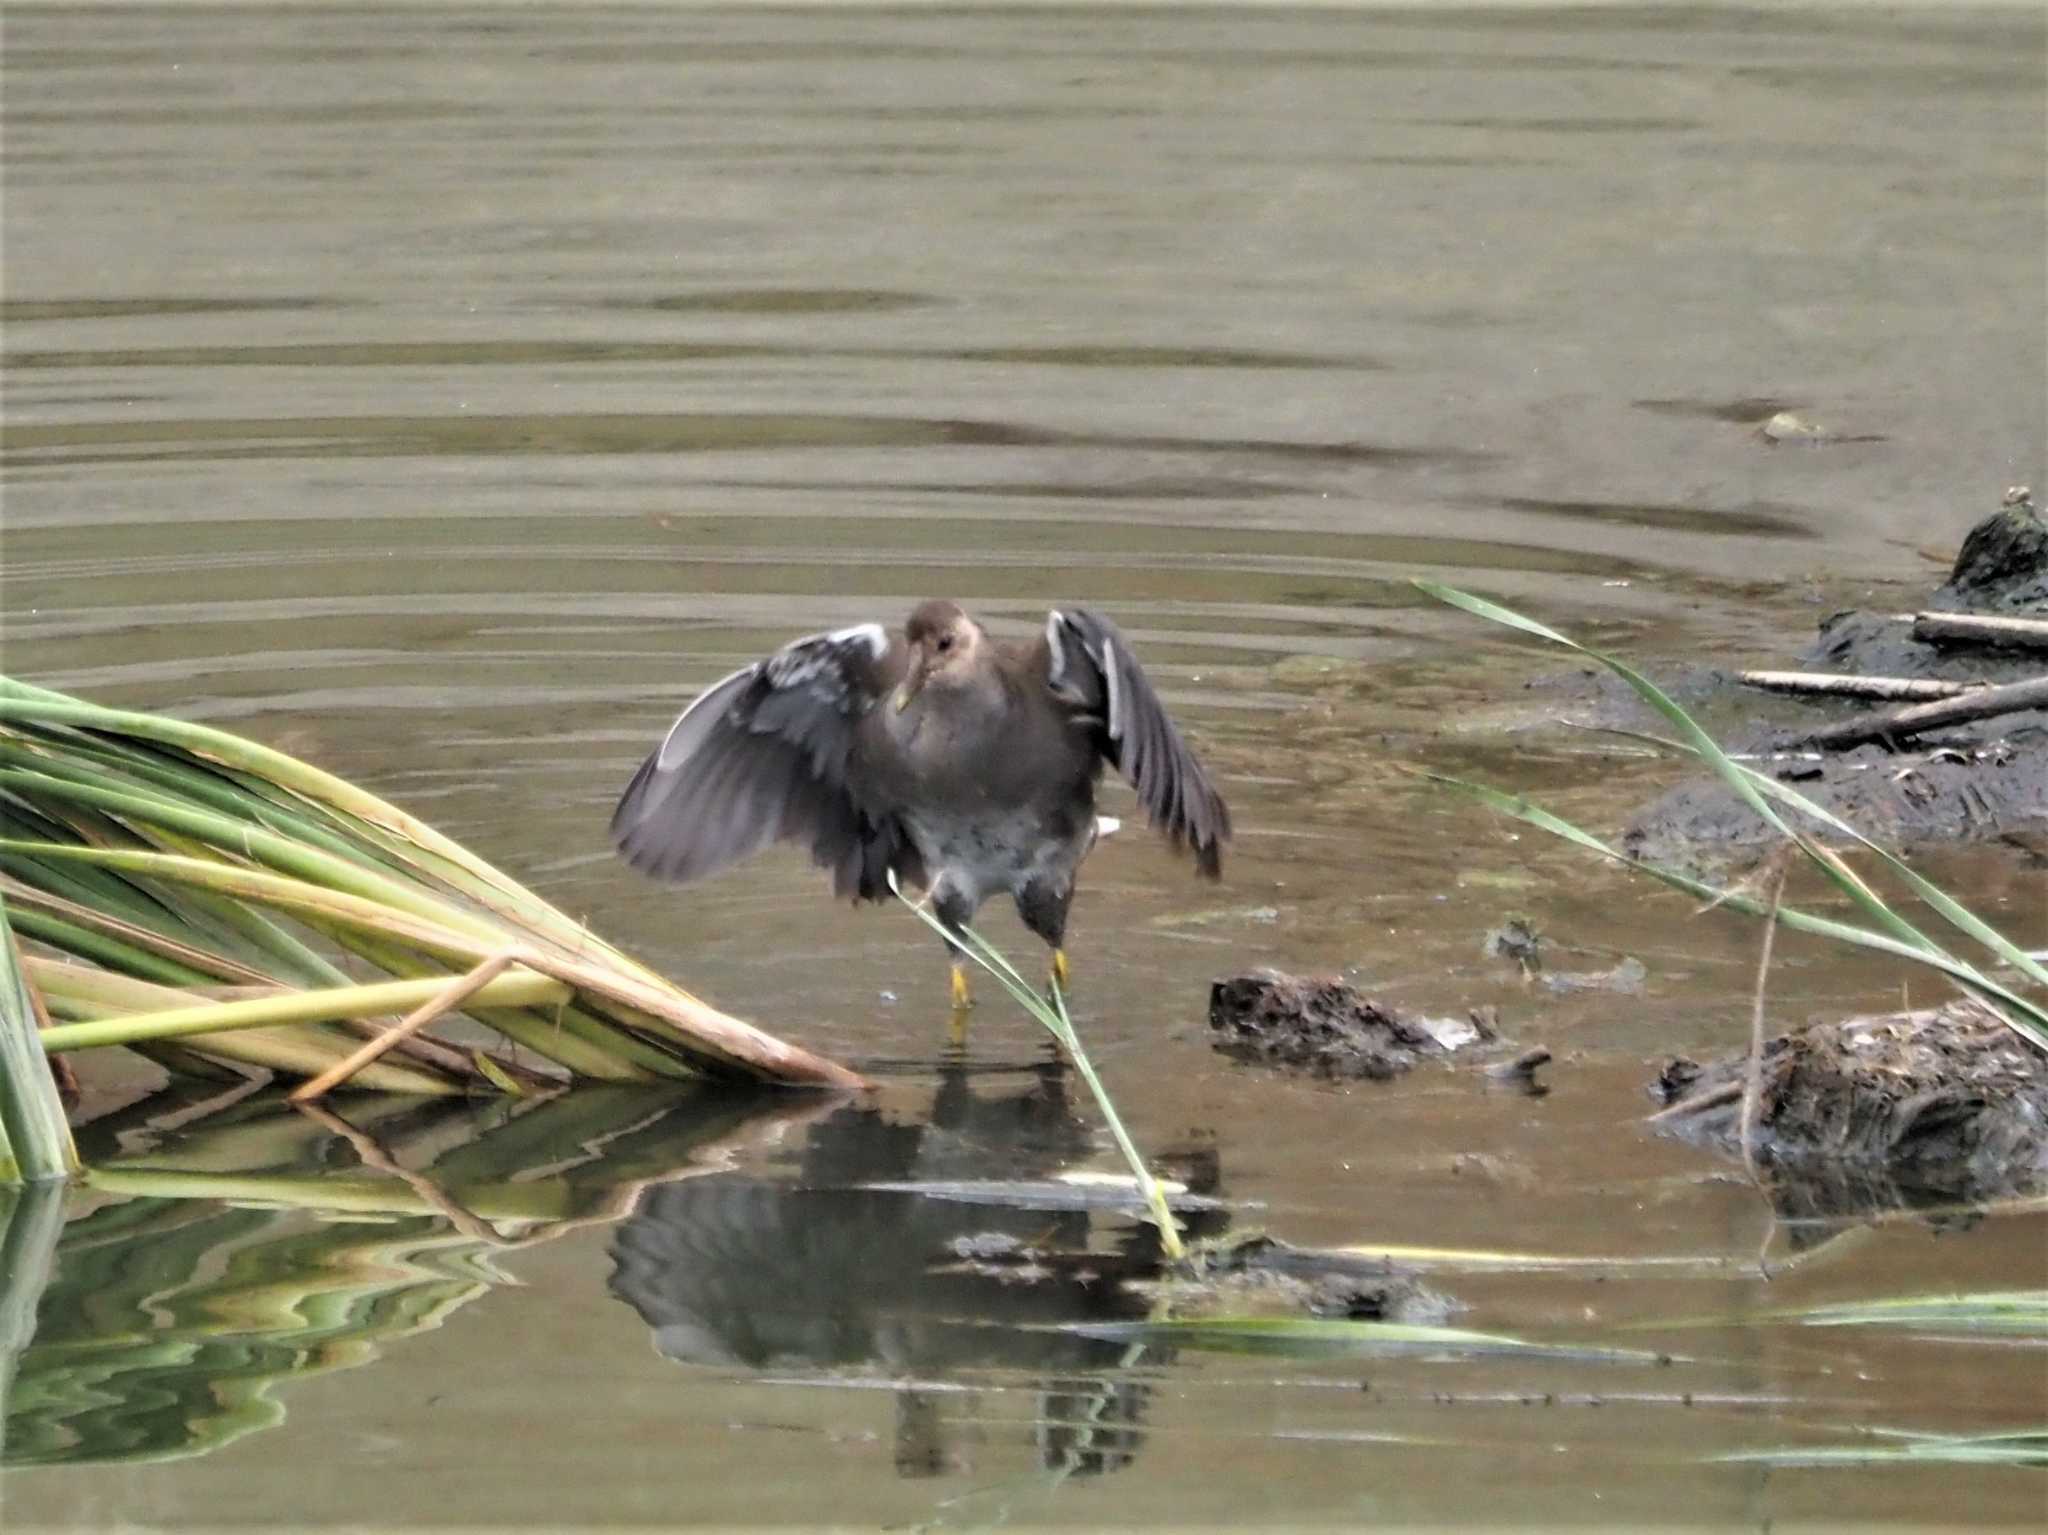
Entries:
[[[223, 1029], [256, 1029], [272, 1068], [319, 1074], [348, 1038], [326, 1021], [367, 1025], [336, 1009], [514, 952], [520, 968], [502, 978], [512, 984], [463, 1011], [575, 1079], [715, 1070], [862, 1085], [666, 982], [375, 794], [225, 731], [0, 677], [0, 878], [20, 892], [41, 946], [174, 991], [233, 980], [299, 995], [199, 997], [137, 1019], [133, 1007], [80, 1017], [100, 1003], [74, 993], [53, 1048], [119, 1040], [162, 1052], [195, 1040], [250, 1062]], [[358, 982], [336, 958], [369, 960], [393, 980]], [[324, 1019], [295, 1027], [326, 1058], [295, 1050], [287, 1066], [268, 1048], [287, 1019]], [[526, 1074], [428, 1034], [406, 1050], [416, 1091], [502, 1089]]]

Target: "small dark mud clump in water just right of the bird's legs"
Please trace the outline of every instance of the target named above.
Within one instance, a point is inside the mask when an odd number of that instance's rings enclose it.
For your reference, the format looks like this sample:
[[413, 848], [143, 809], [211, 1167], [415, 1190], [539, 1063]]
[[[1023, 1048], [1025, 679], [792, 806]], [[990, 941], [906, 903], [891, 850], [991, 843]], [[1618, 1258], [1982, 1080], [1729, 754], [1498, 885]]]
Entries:
[[1425, 1058], [1495, 1044], [1493, 1019], [1421, 1017], [1382, 1007], [1333, 976], [1253, 970], [1208, 989], [1210, 1046], [1237, 1060], [1329, 1079], [1386, 1081]]

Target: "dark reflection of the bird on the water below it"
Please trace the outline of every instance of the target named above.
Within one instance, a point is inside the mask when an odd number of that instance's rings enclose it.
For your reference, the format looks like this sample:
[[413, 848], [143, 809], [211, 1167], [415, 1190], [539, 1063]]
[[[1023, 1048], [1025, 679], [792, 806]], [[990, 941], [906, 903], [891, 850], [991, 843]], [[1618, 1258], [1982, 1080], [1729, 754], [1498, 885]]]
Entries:
[[[1034, 1068], [1024, 1091], [981, 1091], [954, 1064], [926, 1120], [850, 1105], [813, 1124], [793, 1181], [647, 1189], [612, 1240], [612, 1289], [680, 1363], [897, 1382], [901, 1476], [954, 1463], [954, 1398], [934, 1388], [997, 1371], [1032, 1382], [1044, 1467], [1110, 1472], [1141, 1443], [1149, 1386], [1133, 1369], [1165, 1351], [1057, 1328], [1145, 1316], [1122, 1281], [1155, 1269], [1157, 1236], [1124, 1212], [1063, 1208], [1024, 1187], [1094, 1152], [1063, 1064]], [[1214, 1160], [1180, 1175], [1202, 1193]], [[946, 1193], [874, 1187], [909, 1183]], [[1092, 1253], [1096, 1216], [1114, 1232]], [[1225, 1216], [1190, 1220], [1221, 1228]], [[1018, 1261], [1020, 1246], [1049, 1257]], [[995, 1253], [1001, 1263], [979, 1261]]]

